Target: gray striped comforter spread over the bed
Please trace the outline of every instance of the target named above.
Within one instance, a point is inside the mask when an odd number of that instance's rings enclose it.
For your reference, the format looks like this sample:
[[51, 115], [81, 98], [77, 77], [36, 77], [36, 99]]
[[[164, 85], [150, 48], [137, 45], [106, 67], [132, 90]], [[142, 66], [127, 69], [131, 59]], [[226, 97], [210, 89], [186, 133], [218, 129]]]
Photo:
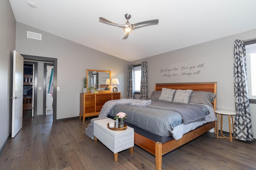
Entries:
[[[172, 105], [172, 107], [169, 107], [170, 105]], [[182, 106], [184, 106], [185, 109], [180, 109]], [[110, 107], [107, 108], [109, 109]], [[191, 113], [190, 110], [194, 113]], [[209, 114], [208, 109], [203, 105], [190, 105], [158, 100], [152, 100], [152, 104], [146, 105], [146, 107], [133, 106], [130, 104], [113, 105], [107, 114], [116, 117], [116, 114], [119, 112], [127, 114], [127, 119], [124, 120], [126, 123], [160, 136], [172, 136], [172, 129], [184, 123], [185, 117], [185, 119], [192, 118], [191, 120], [186, 120], [186, 123], [190, 123], [192, 121], [205, 119], [205, 115]], [[102, 113], [103, 111], [100, 113], [99, 117], [106, 116]]]

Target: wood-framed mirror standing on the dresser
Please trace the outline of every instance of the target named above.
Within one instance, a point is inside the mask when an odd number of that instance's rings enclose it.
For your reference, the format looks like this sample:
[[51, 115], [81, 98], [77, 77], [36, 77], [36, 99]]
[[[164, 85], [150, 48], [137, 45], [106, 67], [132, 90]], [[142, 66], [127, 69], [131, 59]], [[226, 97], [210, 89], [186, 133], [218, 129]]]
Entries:
[[111, 71], [103, 70], [86, 70], [88, 79], [87, 89], [95, 87], [98, 92], [110, 92], [110, 84], [106, 83], [107, 79], [111, 80]]

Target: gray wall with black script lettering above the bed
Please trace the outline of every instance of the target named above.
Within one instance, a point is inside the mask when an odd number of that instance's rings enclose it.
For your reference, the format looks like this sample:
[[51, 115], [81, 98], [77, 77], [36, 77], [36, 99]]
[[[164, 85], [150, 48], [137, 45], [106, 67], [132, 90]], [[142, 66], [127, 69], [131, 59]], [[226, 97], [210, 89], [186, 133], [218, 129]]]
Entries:
[[[254, 38], [255, 35], [256, 30], [252, 30], [133, 61], [132, 64], [148, 61], [149, 96], [154, 90], [155, 83], [216, 81], [217, 109], [235, 111], [233, 78], [234, 40], [246, 40]], [[184, 67], [183, 70], [182, 67]], [[184, 75], [183, 72], [185, 72]], [[192, 73], [192, 75], [186, 73]], [[252, 128], [256, 132], [256, 104], [250, 104], [250, 111]], [[229, 131], [228, 119], [226, 117], [223, 119], [223, 129]]]

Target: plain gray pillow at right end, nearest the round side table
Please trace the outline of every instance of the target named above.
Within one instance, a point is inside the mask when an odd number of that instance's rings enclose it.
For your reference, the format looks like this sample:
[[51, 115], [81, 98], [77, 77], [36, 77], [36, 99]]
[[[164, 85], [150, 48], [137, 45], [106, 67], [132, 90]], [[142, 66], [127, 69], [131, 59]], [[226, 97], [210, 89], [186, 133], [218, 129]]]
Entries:
[[199, 103], [209, 105], [211, 107], [216, 95], [208, 91], [193, 91], [190, 96], [189, 103]]

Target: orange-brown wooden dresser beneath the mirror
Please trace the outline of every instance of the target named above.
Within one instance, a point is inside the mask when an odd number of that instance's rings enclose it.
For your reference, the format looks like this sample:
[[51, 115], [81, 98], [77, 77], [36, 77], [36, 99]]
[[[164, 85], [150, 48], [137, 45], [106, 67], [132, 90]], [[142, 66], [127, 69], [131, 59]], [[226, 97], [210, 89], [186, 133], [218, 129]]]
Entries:
[[121, 99], [121, 92], [110, 93], [80, 93], [80, 114], [83, 117], [97, 116], [104, 103], [110, 100]]

